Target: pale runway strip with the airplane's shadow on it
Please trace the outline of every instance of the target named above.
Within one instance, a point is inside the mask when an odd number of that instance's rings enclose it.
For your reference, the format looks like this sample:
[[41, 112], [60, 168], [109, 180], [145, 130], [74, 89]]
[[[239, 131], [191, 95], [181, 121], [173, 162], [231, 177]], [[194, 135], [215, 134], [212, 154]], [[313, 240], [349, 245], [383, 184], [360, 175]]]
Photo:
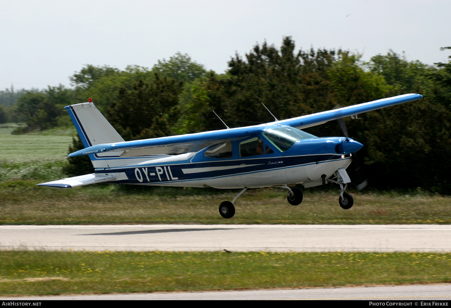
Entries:
[[0, 249], [450, 252], [449, 225], [0, 226]]

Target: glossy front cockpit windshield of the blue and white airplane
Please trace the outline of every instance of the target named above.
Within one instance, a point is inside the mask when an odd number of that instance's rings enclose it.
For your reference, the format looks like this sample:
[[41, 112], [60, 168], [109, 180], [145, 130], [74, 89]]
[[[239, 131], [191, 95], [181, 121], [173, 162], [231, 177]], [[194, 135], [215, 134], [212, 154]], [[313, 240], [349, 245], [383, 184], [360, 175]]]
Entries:
[[306, 138], [318, 138], [305, 131], [301, 131], [294, 127], [277, 127], [263, 131], [263, 136], [267, 137], [272, 145], [277, 149], [285, 152], [290, 149], [296, 141]]

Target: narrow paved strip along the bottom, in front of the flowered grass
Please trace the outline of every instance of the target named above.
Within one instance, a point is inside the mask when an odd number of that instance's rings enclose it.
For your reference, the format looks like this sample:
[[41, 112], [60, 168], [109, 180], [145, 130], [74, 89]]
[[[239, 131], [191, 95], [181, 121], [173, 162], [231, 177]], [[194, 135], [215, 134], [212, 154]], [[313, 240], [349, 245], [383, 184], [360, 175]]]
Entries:
[[[174, 293], [132, 293], [132, 294], [96, 294], [66, 296], [29, 296], [0, 297], [8, 300], [377, 300], [393, 302], [399, 300], [436, 300], [451, 299], [451, 285], [400, 285], [360, 288], [325, 288], [297, 290], [249, 290], [215, 292], [174, 292]], [[421, 305], [421, 302], [417, 302]], [[385, 305], [384, 305], [385, 306]], [[389, 306], [389, 305], [387, 305]], [[411, 303], [410, 306], [416, 306]]]

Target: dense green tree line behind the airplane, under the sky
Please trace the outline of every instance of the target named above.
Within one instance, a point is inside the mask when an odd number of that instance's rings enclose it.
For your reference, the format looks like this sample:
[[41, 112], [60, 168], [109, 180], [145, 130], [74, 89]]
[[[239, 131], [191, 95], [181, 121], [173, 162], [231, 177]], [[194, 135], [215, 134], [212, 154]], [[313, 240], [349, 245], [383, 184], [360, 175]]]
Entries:
[[[229, 127], [239, 127], [273, 121], [262, 103], [285, 119], [419, 93], [423, 99], [417, 102], [345, 122], [350, 136], [365, 145], [359, 153], [373, 186], [451, 191], [451, 61], [429, 66], [390, 50], [364, 63], [361, 55], [344, 50], [295, 52], [295, 42], [285, 37], [280, 48], [255, 45], [244, 58], [236, 54], [228, 64], [226, 73], [216, 74], [177, 53], [152, 69], [86, 65], [70, 78], [74, 89], [49, 87], [21, 96], [18, 105], [29, 102], [45, 110], [22, 112], [29, 126], [45, 129], [62, 117], [53, 113], [52, 104], [91, 97], [125, 140], [136, 140], [224, 128], [213, 110]], [[306, 131], [343, 135], [335, 121]]]

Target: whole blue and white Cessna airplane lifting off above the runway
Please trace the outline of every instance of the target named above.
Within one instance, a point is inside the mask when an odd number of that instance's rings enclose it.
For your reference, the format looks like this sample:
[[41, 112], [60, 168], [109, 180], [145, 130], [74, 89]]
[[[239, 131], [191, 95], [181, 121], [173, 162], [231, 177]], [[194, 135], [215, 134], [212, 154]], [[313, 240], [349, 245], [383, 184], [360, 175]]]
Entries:
[[[405, 94], [280, 121], [274, 117], [274, 122], [259, 125], [133, 141], [124, 141], [89, 99], [64, 108], [85, 146], [69, 157], [89, 155], [95, 172], [37, 185], [68, 188], [104, 182], [241, 188], [232, 201], [219, 206], [221, 216], [231, 218], [236, 199], [249, 188], [284, 188], [287, 201], [299, 205], [303, 194], [295, 185], [335, 183], [341, 208], [349, 209], [354, 199], [346, 192], [351, 182], [346, 168], [363, 145], [348, 136], [317, 137], [301, 129], [422, 97]], [[359, 185], [363, 188], [366, 181]]]

